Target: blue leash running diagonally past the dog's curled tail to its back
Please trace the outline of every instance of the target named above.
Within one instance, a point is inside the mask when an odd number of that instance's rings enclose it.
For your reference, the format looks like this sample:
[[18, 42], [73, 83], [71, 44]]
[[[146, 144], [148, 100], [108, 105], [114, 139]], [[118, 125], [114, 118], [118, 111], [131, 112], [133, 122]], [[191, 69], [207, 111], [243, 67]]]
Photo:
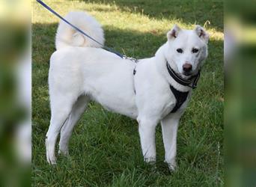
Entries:
[[[39, 2], [41, 5], [43, 5], [43, 7], [45, 7], [47, 10], [49, 10], [50, 12], [52, 12], [53, 14], [55, 14], [55, 16], [58, 16], [58, 18], [62, 19], [62, 20], [63, 20], [64, 22], [66, 22], [68, 25], [70, 25], [71, 27], [75, 28], [76, 31], [81, 32], [81, 33], [84, 34], [86, 37], [88, 37], [88, 38], [90, 38], [91, 40], [93, 40], [94, 42], [100, 44], [100, 46], [102, 46], [103, 49], [106, 49], [106, 50], [109, 51], [109, 52], [113, 52], [113, 53], [115, 53], [115, 55], [118, 55], [118, 56], [121, 57], [121, 58], [127, 58], [126, 55], [122, 55], [121, 53], [116, 52], [114, 49], [109, 48], [109, 47], [107, 47], [107, 46], [104, 46], [102, 43], [98, 42], [98, 41], [95, 40], [93, 37], [90, 37], [88, 34], [86, 34], [86, 33], [85, 33], [84, 31], [82, 31], [80, 28], [78, 28], [78, 27], [76, 27], [75, 25], [73, 25], [72, 23], [68, 22], [67, 19], [64, 19], [60, 14], [56, 13], [55, 10], [52, 10], [52, 8], [49, 7], [47, 4], [45, 4], [43, 1], [37, 0], [37, 2]], [[135, 60], [134, 58], [128, 58], [128, 59], [130, 59], [130, 60], [132, 60], [132, 61], [135, 61], [135, 62], [137, 61], [137, 60]]]

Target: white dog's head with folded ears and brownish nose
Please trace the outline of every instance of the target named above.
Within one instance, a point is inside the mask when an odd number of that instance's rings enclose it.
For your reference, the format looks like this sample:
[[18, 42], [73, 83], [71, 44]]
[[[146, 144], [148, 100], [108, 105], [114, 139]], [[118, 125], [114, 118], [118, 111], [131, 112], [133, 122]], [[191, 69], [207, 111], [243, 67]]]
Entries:
[[177, 25], [167, 33], [168, 49], [165, 53], [168, 63], [180, 75], [189, 77], [198, 73], [207, 58], [209, 34], [200, 25], [194, 30], [183, 30]]

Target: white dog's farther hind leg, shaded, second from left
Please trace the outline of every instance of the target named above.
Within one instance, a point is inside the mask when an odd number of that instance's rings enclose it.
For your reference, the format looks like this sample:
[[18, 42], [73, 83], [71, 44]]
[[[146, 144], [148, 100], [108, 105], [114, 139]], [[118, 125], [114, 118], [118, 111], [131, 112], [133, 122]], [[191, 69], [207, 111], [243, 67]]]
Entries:
[[73, 105], [70, 117], [67, 119], [66, 123], [61, 128], [61, 138], [58, 150], [59, 154], [61, 153], [64, 156], [69, 155], [68, 143], [70, 140], [70, 136], [73, 132], [74, 126], [79, 121], [82, 113], [85, 111], [85, 108], [88, 105], [89, 100], [90, 99], [88, 96], [79, 96], [79, 99], [77, 99], [77, 101]]

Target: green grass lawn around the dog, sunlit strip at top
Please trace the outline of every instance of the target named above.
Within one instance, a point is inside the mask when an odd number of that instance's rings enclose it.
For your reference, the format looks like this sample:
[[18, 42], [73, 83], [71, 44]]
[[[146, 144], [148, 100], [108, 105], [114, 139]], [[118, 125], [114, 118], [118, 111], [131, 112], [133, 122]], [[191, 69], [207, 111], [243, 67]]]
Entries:
[[102, 24], [106, 45], [135, 58], [147, 58], [165, 43], [177, 23], [206, 24], [209, 57], [180, 121], [178, 169], [163, 164], [161, 129], [156, 130], [157, 169], [145, 165], [135, 120], [91, 103], [70, 140], [70, 157], [46, 163], [44, 138], [49, 126], [48, 69], [55, 51], [58, 19], [33, 3], [33, 186], [223, 186], [223, 6], [222, 1], [46, 1], [64, 15], [87, 10]]

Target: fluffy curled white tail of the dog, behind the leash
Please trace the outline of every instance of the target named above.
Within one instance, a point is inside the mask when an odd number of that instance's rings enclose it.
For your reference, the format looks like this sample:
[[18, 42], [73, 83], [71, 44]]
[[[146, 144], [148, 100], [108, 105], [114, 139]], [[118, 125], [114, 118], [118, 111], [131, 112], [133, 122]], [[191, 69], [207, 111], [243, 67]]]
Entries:
[[[103, 28], [93, 16], [88, 15], [85, 12], [70, 12], [64, 17], [68, 22], [80, 28], [90, 37], [97, 40], [99, 43], [104, 45], [104, 32]], [[102, 47], [99, 43], [94, 42], [90, 38], [86, 37], [75, 28], [67, 25], [66, 22], [62, 21], [58, 25], [55, 46], [56, 49], [61, 49], [66, 46], [81, 46], [81, 47]]]

